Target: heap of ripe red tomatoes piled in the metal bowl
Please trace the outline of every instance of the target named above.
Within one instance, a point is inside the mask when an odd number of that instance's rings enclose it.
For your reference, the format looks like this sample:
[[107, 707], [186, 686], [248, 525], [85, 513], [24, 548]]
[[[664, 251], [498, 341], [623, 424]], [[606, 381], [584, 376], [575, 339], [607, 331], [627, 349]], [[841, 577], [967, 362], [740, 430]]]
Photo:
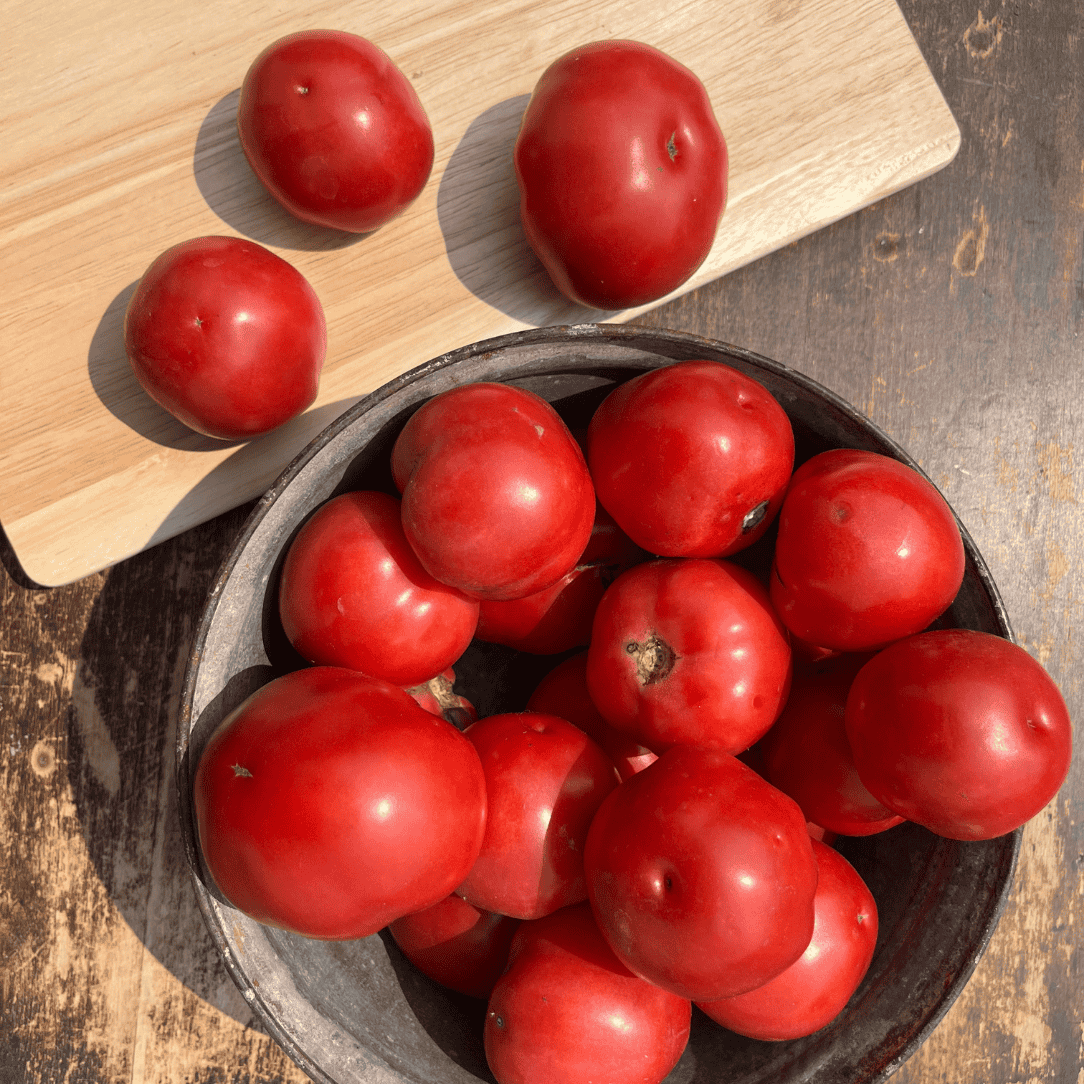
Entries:
[[[728, 365], [617, 385], [582, 434], [459, 386], [390, 469], [396, 494], [333, 496], [289, 542], [278, 610], [310, 664], [209, 739], [199, 840], [255, 919], [387, 928], [488, 998], [500, 1084], [661, 1081], [694, 1004], [816, 1031], [877, 938], [833, 837], [997, 836], [1068, 772], [1038, 663], [939, 628], [965, 552], [937, 489], [865, 451], [796, 469], [786, 413]], [[554, 656], [527, 710], [455, 694], [476, 637]]]

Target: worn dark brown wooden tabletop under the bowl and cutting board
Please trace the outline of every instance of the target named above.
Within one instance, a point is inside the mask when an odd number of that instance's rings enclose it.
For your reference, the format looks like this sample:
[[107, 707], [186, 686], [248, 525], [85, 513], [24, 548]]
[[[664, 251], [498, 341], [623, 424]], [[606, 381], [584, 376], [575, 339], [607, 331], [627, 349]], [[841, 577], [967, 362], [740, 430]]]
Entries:
[[[1084, 718], [1084, 15], [1077, 0], [902, 7], [963, 130], [957, 158], [640, 322], [785, 361], [902, 442]], [[5, 1084], [306, 1080], [219, 963], [175, 813], [183, 666], [245, 512], [48, 590], [0, 539]], [[1077, 758], [900, 1084], [1082, 1079], [1082, 809]]]

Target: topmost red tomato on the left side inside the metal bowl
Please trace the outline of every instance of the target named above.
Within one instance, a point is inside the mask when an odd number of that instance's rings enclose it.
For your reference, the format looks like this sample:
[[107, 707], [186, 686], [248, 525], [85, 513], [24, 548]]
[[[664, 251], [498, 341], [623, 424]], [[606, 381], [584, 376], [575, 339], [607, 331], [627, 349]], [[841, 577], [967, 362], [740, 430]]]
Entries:
[[465, 384], [426, 402], [391, 451], [422, 566], [478, 598], [518, 598], [576, 566], [595, 518], [583, 453], [532, 391]]

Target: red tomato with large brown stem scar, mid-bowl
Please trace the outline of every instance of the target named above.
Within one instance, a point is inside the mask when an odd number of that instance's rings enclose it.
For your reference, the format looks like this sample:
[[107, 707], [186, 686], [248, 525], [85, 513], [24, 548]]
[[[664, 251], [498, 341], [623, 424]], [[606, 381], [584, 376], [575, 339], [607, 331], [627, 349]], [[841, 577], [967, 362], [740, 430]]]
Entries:
[[740, 752], [786, 701], [790, 646], [751, 572], [726, 560], [653, 560], [603, 595], [586, 678], [603, 717], [648, 749]]

